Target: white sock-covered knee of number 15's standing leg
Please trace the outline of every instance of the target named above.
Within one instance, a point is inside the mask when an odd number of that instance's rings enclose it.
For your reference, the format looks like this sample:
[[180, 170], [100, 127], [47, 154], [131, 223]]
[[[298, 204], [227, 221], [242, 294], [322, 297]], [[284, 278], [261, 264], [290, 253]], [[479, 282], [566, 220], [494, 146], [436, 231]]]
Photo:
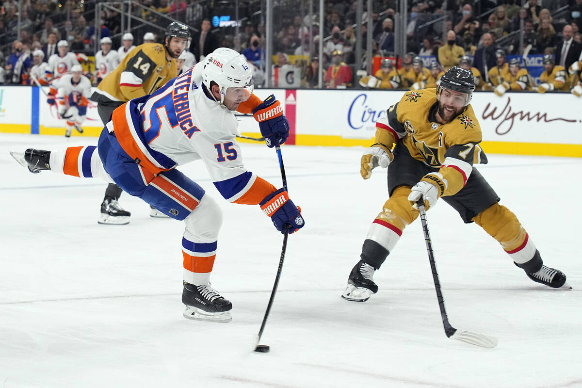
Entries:
[[198, 243], [211, 243], [222, 226], [222, 210], [217, 201], [205, 194], [196, 208], [184, 218], [184, 236]]

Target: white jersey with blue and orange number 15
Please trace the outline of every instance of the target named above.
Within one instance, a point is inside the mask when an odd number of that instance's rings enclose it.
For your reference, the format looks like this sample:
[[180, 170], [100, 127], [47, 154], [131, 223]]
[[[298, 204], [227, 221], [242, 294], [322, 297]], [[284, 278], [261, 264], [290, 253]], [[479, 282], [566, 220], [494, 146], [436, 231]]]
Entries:
[[194, 66], [151, 96], [127, 102], [107, 128], [149, 172], [201, 159], [226, 200], [258, 204], [275, 187], [244, 167], [234, 112], [204, 94], [201, 70]]

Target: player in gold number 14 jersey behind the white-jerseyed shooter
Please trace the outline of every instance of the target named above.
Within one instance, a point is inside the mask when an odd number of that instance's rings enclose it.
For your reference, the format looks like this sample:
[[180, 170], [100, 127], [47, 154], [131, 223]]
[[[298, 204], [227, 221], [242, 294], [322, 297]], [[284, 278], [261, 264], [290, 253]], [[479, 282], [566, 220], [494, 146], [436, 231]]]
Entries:
[[[176, 77], [176, 58], [190, 45], [190, 31], [186, 24], [173, 22], [166, 29], [164, 44], [144, 43], [132, 49], [122, 62], [107, 74], [91, 99], [97, 102], [97, 111], [103, 124], [111, 114], [130, 99], [152, 94], [159, 87]], [[110, 183], [101, 203], [98, 223], [124, 225], [129, 223], [130, 212], [120, 207], [118, 199], [122, 190]], [[153, 217], [165, 217], [151, 208]]]

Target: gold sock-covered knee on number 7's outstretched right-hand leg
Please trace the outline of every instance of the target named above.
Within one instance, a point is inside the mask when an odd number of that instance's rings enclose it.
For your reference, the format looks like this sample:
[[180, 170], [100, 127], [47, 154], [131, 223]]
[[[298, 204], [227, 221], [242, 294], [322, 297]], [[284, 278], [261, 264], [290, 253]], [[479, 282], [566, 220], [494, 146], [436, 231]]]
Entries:
[[505, 206], [495, 203], [473, 218], [489, 236], [499, 241], [506, 251], [521, 245], [526, 231], [517, 217]]

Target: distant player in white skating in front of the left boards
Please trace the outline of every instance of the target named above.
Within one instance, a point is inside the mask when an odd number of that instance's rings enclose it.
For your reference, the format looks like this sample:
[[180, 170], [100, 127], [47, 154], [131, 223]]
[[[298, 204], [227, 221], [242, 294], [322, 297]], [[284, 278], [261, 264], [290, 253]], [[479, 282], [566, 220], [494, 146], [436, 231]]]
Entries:
[[52, 81], [51, 88], [56, 90], [59, 116], [66, 120], [65, 136], [71, 136], [73, 127], [83, 133], [81, 124], [87, 118], [88, 98], [91, 97], [91, 81], [83, 75], [83, 67], [74, 65], [70, 74]]

